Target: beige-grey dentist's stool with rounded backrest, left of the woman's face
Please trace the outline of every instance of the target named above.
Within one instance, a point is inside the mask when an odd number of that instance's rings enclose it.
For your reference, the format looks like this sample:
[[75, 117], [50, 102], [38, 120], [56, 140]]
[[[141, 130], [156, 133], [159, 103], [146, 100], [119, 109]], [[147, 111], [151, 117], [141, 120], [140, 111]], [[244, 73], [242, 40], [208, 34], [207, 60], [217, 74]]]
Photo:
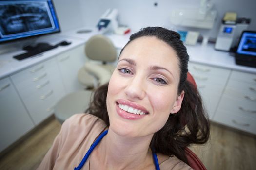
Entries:
[[90, 59], [78, 72], [79, 82], [85, 90], [67, 94], [54, 107], [56, 119], [62, 124], [76, 113], [83, 113], [90, 103], [93, 90], [99, 85], [107, 83], [115, 69], [117, 50], [109, 38], [98, 34], [92, 36], [85, 44], [85, 54]]

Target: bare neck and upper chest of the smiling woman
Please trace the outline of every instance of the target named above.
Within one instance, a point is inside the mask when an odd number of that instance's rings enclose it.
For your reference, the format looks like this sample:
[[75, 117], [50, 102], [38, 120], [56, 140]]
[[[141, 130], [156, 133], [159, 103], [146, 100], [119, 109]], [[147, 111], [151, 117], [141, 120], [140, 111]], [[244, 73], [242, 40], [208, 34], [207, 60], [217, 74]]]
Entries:
[[109, 129], [98, 146], [98, 160], [102, 161], [105, 168], [115, 170], [154, 166], [149, 149], [152, 136], [128, 138], [119, 136]]

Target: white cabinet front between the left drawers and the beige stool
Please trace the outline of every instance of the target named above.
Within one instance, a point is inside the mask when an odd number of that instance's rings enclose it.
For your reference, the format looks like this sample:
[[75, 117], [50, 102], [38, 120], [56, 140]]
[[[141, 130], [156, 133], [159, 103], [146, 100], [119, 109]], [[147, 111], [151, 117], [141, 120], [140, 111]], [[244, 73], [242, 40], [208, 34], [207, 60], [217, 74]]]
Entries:
[[86, 58], [84, 45], [57, 56], [59, 71], [67, 93], [82, 90], [84, 86], [78, 81], [78, 71], [84, 65]]

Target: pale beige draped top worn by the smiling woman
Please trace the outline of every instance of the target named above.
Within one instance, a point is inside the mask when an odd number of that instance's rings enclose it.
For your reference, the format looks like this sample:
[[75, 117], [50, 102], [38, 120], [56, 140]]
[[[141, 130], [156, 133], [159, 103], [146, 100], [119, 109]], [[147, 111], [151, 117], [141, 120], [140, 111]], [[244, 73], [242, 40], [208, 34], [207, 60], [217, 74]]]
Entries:
[[[94, 140], [107, 128], [104, 121], [91, 114], [76, 114], [67, 119], [46, 153], [38, 170], [74, 170]], [[89, 170], [86, 161], [82, 170]], [[160, 163], [160, 162], [159, 162]], [[160, 170], [192, 170], [173, 156], [160, 163]]]

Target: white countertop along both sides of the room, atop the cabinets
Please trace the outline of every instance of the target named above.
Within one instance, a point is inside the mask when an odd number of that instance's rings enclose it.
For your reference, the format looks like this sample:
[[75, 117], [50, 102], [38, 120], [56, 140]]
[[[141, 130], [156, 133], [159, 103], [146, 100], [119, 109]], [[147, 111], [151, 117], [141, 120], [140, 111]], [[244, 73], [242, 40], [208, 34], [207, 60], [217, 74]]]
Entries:
[[[77, 33], [77, 31], [80, 31], [80, 30], [92, 30], [92, 32]], [[44, 52], [39, 56], [27, 58], [21, 61], [13, 59], [12, 56], [22, 53], [24, 51], [20, 50], [20, 51], [9, 52], [7, 54], [1, 54], [0, 55], [0, 78], [14, 74], [24, 68], [35, 65], [48, 58], [54, 57], [55, 55], [61, 52], [68, 51], [76, 46], [84, 44], [91, 36], [95, 34], [101, 34], [101, 32], [98, 32], [97, 29], [94, 27], [84, 27], [84, 28], [69, 30], [58, 35], [42, 37], [39, 39], [40, 42], [46, 41], [52, 44], [56, 44], [60, 41], [66, 40], [66, 41], [71, 41], [72, 43], [68, 46], [59, 46], [58, 48]], [[130, 35], [131, 34], [126, 34], [126, 35], [106, 34], [106, 36], [108, 36], [113, 41], [113, 44], [117, 49], [122, 49], [124, 47], [124, 45], [128, 42]], [[235, 58], [233, 56], [230, 56], [228, 52], [215, 50], [213, 44], [207, 44], [207, 45], [197, 44], [196, 46], [187, 45], [187, 51], [190, 56], [191, 62], [256, 74], [256, 68], [236, 65]]]

